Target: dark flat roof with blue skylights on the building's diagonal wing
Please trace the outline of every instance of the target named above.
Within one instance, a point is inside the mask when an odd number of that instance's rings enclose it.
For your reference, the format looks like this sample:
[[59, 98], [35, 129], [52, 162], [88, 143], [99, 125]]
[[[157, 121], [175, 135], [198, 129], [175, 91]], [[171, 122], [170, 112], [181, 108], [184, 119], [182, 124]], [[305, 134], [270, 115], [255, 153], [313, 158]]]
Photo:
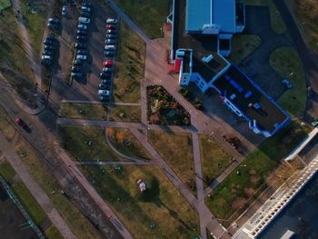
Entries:
[[[245, 116], [251, 121], [255, 120], [260, 130], [272, 133], [276, 124], [283, 124], [289, 118], [272, 98], [235, 65], [231, 65], [213, 85]], [[255, 109], [251, 104], [260, 105], [260, 108]]]

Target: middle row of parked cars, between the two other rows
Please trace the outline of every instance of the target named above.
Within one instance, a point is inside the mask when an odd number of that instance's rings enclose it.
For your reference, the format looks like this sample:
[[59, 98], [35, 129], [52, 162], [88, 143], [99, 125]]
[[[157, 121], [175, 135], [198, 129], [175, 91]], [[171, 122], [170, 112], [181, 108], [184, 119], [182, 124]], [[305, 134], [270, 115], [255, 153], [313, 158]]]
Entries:
[[79, 79], [83, 77], [81, 66], [87, 61], [88, 52], [86, 50], [88, 35], [88, 25], [91, 22], [90, 16], [92, 15], [92, 5], [90, 3], [84, 3], [81, 6], [80, 16], [78, 17], [78, 25], [75, 35], [76, 43], [75, 48], [75, 60], [73, 61], [71, 77]]

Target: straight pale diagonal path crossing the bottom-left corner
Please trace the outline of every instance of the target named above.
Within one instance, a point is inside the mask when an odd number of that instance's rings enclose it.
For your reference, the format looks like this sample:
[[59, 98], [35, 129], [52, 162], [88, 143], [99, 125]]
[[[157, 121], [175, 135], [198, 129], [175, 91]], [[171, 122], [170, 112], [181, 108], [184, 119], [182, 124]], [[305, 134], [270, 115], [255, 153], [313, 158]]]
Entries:
[[76, 238], [75, 234], [71, 231], [65, 220], [55, 209], [55, 206], [51, 203], [50, 198], [45, 194], [45, 191], [35, 182], [33, 177], [28, 173], [25, 164], [21, 158], [15, 153], [15, 149], [5, 139], [5, 136], [0, 133], [0, 150], [3, 152], [7, 161], [15, 169], [16, 174], [19, 175], [22, 182], [25, 184], [30, 193], [35, 197], [38, 204], [47, 214], [47, 217], [55, 224], [57, 230], [64, 236], [64, 238]]

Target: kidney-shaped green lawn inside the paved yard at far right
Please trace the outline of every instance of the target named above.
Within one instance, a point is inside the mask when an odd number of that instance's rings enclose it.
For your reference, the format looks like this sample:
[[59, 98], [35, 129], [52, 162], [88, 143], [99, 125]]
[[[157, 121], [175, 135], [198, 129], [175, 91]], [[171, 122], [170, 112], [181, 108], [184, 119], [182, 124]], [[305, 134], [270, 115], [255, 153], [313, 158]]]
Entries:
[[281, 105], [290, 115], [303, 116], [307, 101], [307, 91], [303, 65], [297, 52], [291, 47], [277, 48], [270, 56], [270, 65], [282, 78], [292, 83], [292, 88], [278, 99]]

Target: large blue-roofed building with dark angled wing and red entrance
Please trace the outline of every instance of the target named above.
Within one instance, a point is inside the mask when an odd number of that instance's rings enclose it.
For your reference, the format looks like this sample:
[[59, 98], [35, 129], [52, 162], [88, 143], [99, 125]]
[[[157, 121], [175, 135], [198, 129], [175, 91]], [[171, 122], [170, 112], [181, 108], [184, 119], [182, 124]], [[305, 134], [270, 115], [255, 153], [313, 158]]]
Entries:
[[214, 88], [224, 105], [243, 117], [255, 134], [269, 137], [289, 124], [290, 116], [224, 58], [231, 52], [232, 36], [244, 29], [244, 12], [241, 1], [174, 0], [167, 18], [173, 25], [171, 61], [179, 72], [179, 85], [192, 82], [203, 93]]

